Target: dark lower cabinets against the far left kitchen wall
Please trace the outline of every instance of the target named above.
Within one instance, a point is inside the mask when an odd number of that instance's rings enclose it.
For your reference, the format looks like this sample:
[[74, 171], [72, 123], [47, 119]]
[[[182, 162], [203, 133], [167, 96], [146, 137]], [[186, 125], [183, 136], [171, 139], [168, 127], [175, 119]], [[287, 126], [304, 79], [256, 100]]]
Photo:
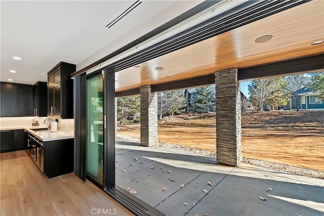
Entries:
[[25, 149], [23, 129], [1, 131], [1, 153]]

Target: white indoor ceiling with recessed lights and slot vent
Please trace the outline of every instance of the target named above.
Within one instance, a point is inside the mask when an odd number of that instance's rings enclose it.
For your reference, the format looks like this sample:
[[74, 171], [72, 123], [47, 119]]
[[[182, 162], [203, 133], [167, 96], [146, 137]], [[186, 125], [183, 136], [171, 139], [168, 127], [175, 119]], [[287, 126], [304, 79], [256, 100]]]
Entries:
[[47, 81], [47, 72], [60, 61], [78, 64], [109, 45], [116, 50], [201, 3], [142, 1], [113, 27], [105, 27], [135, 2], [1, 1], [0, 80]]

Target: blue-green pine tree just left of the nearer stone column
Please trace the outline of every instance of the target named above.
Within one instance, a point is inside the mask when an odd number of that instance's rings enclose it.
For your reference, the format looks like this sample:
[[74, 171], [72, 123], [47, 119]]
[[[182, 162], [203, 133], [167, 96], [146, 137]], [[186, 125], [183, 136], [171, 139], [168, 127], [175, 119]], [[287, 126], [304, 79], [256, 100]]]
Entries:
[[190, 102], [196, 112], [215, 111], [215, 87], [200, 87], [193, 92]]

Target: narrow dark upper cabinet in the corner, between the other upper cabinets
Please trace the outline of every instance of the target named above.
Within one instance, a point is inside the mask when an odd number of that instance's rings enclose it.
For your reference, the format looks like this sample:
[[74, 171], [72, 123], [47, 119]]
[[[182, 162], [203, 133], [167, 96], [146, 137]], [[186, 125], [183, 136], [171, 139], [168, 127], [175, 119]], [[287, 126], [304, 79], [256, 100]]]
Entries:
[[47, 117], [47, 82], [36, 82], [33, 87], [33, 116]]

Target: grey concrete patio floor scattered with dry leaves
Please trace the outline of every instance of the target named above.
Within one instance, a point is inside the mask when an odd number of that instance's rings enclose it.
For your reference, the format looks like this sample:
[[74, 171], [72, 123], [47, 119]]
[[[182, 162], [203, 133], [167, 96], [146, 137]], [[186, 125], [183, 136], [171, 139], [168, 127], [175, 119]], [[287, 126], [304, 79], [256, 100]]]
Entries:
[[213, 157], [123, 139], [116, 140], [115, 164], [117, 186], [137, 191], [134, 196], [170, 216], [324, 215], [321, 179], [217, 165]]

